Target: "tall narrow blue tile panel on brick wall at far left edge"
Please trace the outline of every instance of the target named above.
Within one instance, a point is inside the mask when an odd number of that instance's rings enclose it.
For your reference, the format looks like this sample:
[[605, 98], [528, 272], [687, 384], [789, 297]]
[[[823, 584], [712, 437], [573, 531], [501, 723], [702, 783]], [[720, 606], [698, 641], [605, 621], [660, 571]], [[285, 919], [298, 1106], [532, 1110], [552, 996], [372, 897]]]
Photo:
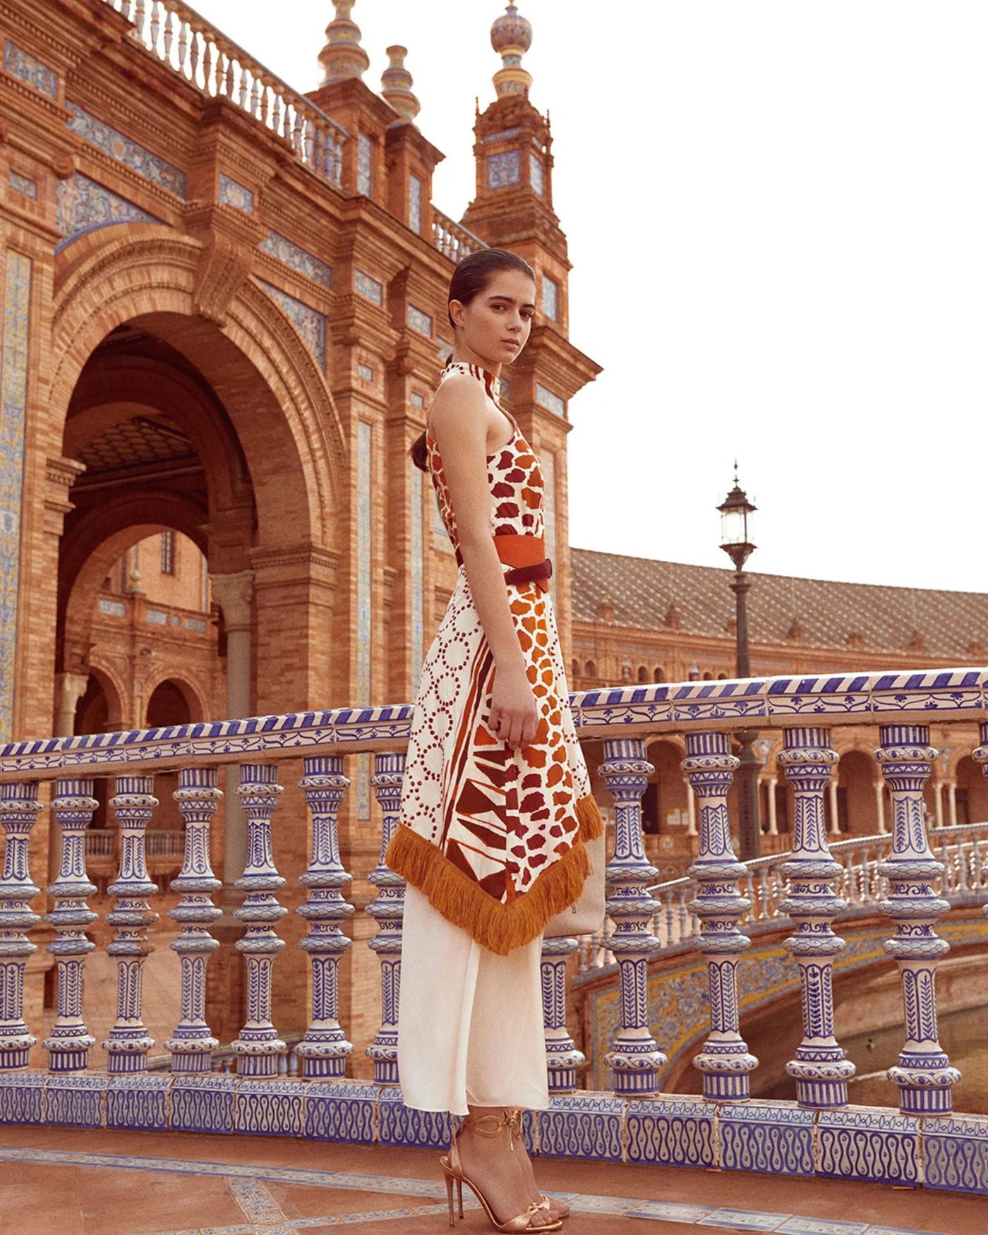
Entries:
[[31, 277], [31, 258], [9, 248], [4, 262], [0, 353], [0, 741], [5, 742], [10, 741], [14, 722]]

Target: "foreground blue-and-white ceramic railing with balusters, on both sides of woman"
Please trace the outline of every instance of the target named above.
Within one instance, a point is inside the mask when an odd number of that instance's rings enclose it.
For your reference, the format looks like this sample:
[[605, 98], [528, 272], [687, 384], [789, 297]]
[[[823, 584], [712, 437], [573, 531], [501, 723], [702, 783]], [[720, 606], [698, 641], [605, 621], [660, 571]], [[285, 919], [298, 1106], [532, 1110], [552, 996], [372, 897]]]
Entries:
[[[614, 852], [608, 863], [614, 923], [610, 948], [620, 982], [621, 1023], [606, 1065], [613, 1089], [576, 1089], [582, 1056], [566, 1028], [566, 967], [577, 940], [543, 945], [543, 1002], [551, 1109], [530, 1119], [529, 1135], [543, 1153], [615, 1161], [677, 1163], [725, 1170], [825, 1174], [934, 1188], [988, 1192], [988, 1118], [953, 1116], [960, 1076], [940, 1047], [935, 969], [946, 942], [934, 930], [948, 908], [934, 892], [944, 866], [931, 852], [923, 787], [936, 752], [930, 722], [978, 722], [976, 760], [988, 766], [988, 671], [958, 669], [827, 678], [771, 678], [594, 690], [573, 698], [580, 736], [603, 740], [599, 767], [615, 805]], [[374, 1082], [346, 1078], [353, 1046], [337, 1019], [337, 966], [351, 947], [342, 925], [353, 913], [343, 895], [350, 876], [340, 862], [337, 814], [348, 787], [348, 756], [373, 752], [372, 778], [387, 845], [398, 806], [411, 709], [408, 705], [196, 724], [89, 737], [48, 739], [0, 750], [0, 818], [6, 839], [0, 881], [0, 1120], [195, 1131], [278, 1132], [327, 1140], [441, 1145], [445, 1115], [408, 1110], [396, 1074], [396, 990], [400, 974], [403, 884], [383, 863], [369, 879], [368, 906], [379, 931], [371, 941], [382, 965], [383, 1024], [368, 1055]], [[878, 866], [888, 895], [887, 951], [900, 969], [905, 1041], [889, 1079], [899, 1110], [848, 1107], [852, 1065], [834, 1037], [831, 965], [841, 948], [831, 923], [842, 903], [834, 884], [842, 866], [827, 846], [824, 793], [837, 756], [827, 725], [878, 725], [876, 758], [889, 787], [894, 827]], [[748, 946], [740, 931], [748, 902], [739, 878], [745, 867], [731, 848], [726, 794], [737, 761], [731, 731], [782, 730], [779, 757], [794, 792], [793, 852], [782, 868], [789, 893], [781, 906], [793, 921], [788, 947], [799, 968], [804, 1036], [788, 1071], [798, 1100], [750, 1100], [757, 1067], [739, 1032], [737, 961]], [[710, 1034], [695, 1066], [703, 1095], [662, 1094], [666, 1058], [653, 1037], [647, 966], [662, 947], [648, 893], [656, 869], [642, 842], [641, 798], [651, 764], [651, 735], [682, 732], [683, 767], [699, 804], [699, 853], [690, 876], [695, 941], [706, 957]], [[310, 923], [303, 941], [312, 965], [311, 1021], [298, 1044], [303, 1079], [279, 1079], [285, 1051], [272, 1020], [272, 966], [284, 947], [277, 925], [284, 881], [272, 848], [272, 815], [282, 789], [278, 766], [304, 761], [301, 787], [311, 813], [311, 862], [300, 877], [309, 897], [299, 913]], [[238, 794], [248, 820], [242, 878], [245, 925], [238, 942], [247, 968], [247, 1020], [232, 1050], [237, 1076], [210, 1072], [216, 1040], [205, 1020], [205, 969], [217, 946], [210, 924], [219, 888], [209, 865], [209, 826], [220, 798], [217, 768], [238, 762]], [[151, 1039], [142, 1023], [141, 976], [148, 944], [146, 827], [156, 806], [153, 774], [179, 769], [175, 798], [185, 821], [184, 866], [170, 911], [180, 926], [172, 947], [182, 960], [180, 1009], [164, 1044], [169, 1074], [148, 1073]], [[94, 1045], [83, 1008], [83, 971], [93, 945], [85, 898], [85, 832], [95, 810], [93, 777], [116, 778], [111, 806], [120, 830], [120, 873], [110, 885], [116, 908], [107, 921], [116, 939], [117, 1018], [107, 1070], [86, 1070]], [[53, 781], [52, 813], [61, 836], [61, 868], [48, 889], [47, 920], [57, 937], [58, 1016], [48, 1039], [48, 1070], [30, 1070], [35, 1039], [23, 1021], [28, 940], [40, 889], [28, 869], [30, 832], [40, 814], [38, 782]], [[382, 853], [383, 853], [382, 847]], [[983, 876], [982, 876], [983, 877]], [[656, 1026], [661, 1037], [662, 1026]]]

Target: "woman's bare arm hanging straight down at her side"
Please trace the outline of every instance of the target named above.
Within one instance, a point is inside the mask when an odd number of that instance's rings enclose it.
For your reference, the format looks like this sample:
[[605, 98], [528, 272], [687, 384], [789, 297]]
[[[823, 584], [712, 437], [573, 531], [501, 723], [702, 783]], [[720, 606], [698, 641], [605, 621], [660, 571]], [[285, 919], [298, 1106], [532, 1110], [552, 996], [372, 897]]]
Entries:
[[429, 426], [442, 457], [467, 582], [494, 657], [490, 729], [511, 746], [530, 746], [538, 709], [490, 534], [488, 408], [480, 384], [466, 375], [448, 377], [429, 409]]

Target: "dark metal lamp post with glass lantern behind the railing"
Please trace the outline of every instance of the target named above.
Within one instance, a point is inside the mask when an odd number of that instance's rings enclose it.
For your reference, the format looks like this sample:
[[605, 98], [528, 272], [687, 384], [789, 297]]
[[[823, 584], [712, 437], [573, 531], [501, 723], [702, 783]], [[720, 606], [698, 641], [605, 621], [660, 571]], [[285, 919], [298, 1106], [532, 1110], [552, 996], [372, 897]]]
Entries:
[[[718, 506], [720, 511], [720, 547], [734, 562], [734, 580], [731, 592], [735, 595], [736, 618], [736, 666], [739, 678], [751, 677], [751, 657], [748, 652], [748, 611], [747, 593], [751, 580], [745, 574], [745, 562], [755, 550], [752, 541], [752, 519], [756, 508], [737, 483], [737, 463], [734, 466], [734, 488]], [[741, 743], [740, 766], [736, 773], [737, 803], [740, 814], [741, 861], [758, 857], [761, 852], [762, 829], [758, 820], [758, 772], [761, 762], [755, 753], [753, 730], [740, 730], [737, 740]]]

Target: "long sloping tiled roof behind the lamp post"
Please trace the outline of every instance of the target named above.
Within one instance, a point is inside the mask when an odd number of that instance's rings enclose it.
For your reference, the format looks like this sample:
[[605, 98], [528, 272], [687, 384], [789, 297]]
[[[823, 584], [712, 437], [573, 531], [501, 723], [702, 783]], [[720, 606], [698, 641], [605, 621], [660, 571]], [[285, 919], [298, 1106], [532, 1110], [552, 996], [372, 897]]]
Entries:
[[[730, 569], [585, 548], [573, 548], [571, 555], [573, 621], [600, 622], [601, 608], [610, 606], [616, 626], [731, 637], [735, 600]], [[926, 652], [958, 664], [983, 655], [972, 650], [972, 643], [988, 648], [988, 595], [983, 593], [753, 572], [748, 577], [748, 629], [755, 643]], [[790, 635], [794, 624], [802, 640]]]

